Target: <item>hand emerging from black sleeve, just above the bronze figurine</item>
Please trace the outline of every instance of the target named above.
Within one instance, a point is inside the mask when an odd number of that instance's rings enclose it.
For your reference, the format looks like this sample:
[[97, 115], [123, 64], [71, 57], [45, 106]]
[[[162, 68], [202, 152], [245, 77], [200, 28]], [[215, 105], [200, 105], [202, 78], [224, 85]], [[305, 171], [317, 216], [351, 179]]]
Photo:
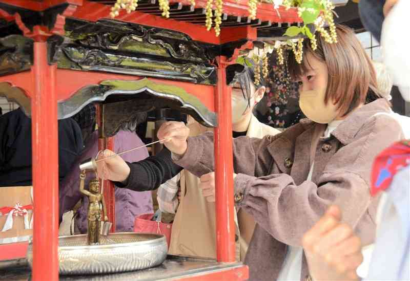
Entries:
[[109, 149], [106, 149], [104, 152], [98, 154], [96, 159], [97, 161], [105, 159], [97, 162], [98, 177], [115, 182], [124, 182], [130, 175], [130, 167], [124, 159], [118, 155], [108, 158], [112, 155], [114, 155], [114, 153]]

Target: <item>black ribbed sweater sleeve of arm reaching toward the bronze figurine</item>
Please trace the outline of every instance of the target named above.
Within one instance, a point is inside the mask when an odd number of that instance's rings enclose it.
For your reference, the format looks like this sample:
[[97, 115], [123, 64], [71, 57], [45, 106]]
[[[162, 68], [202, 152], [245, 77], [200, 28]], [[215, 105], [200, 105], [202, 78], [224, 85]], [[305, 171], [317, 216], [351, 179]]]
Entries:
[[157, 155], [129, 163], [130, 175], [125, 183], [114, 182], [117, 187], [134, 191], [154, 190], [162, 183], [172, 179], [182, 170], [172, 161], [171, 152], [163, 148]]

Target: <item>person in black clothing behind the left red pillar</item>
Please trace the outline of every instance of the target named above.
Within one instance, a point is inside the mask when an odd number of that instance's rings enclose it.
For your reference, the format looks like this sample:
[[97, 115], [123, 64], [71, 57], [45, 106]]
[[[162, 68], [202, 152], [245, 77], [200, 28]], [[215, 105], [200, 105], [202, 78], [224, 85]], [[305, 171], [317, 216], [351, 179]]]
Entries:
[[[81, 149], [83, 138], [78, 124], [72, 118], [58, 120], [60, 183]], [[31, 119], [20, 108], [0, 116], [0, 186], [32, 185], [31, 161]]]

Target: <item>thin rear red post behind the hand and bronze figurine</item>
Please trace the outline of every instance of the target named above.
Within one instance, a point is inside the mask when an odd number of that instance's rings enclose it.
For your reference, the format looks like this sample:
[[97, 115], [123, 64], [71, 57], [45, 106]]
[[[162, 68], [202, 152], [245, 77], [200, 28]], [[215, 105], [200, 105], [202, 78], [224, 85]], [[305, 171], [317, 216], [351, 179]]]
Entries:
[[[97, 119], [98, 119], [98, 150], [110, 149], [114, 151], [114, 137], [104, 136], [104, 104], [97, 106]], [[103, 182], [101, 182], [103, 183]], [[103, 196], [107, 207], [108, 221], [112, 223], [110, 232], [115, 232], [115, 186], [114, 183], [109, 180], [104, 180]]]

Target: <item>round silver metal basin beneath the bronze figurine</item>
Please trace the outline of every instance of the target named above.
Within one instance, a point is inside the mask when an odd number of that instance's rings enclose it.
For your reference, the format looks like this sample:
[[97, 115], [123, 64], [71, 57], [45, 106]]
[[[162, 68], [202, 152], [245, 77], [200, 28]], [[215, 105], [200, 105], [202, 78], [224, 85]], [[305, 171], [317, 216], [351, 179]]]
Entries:
[[[161, 234], [120, 232], [100, 238], [99, 245], [87, 245], [87, 234], [58, 237], [60, 274], [99, 274], [146, 269], [162, 264], [167, 257], [167, 240]], [[30, 242], [27, 260], [33, 265]], [[47, 261], [44, 261], [47, 262]]]

